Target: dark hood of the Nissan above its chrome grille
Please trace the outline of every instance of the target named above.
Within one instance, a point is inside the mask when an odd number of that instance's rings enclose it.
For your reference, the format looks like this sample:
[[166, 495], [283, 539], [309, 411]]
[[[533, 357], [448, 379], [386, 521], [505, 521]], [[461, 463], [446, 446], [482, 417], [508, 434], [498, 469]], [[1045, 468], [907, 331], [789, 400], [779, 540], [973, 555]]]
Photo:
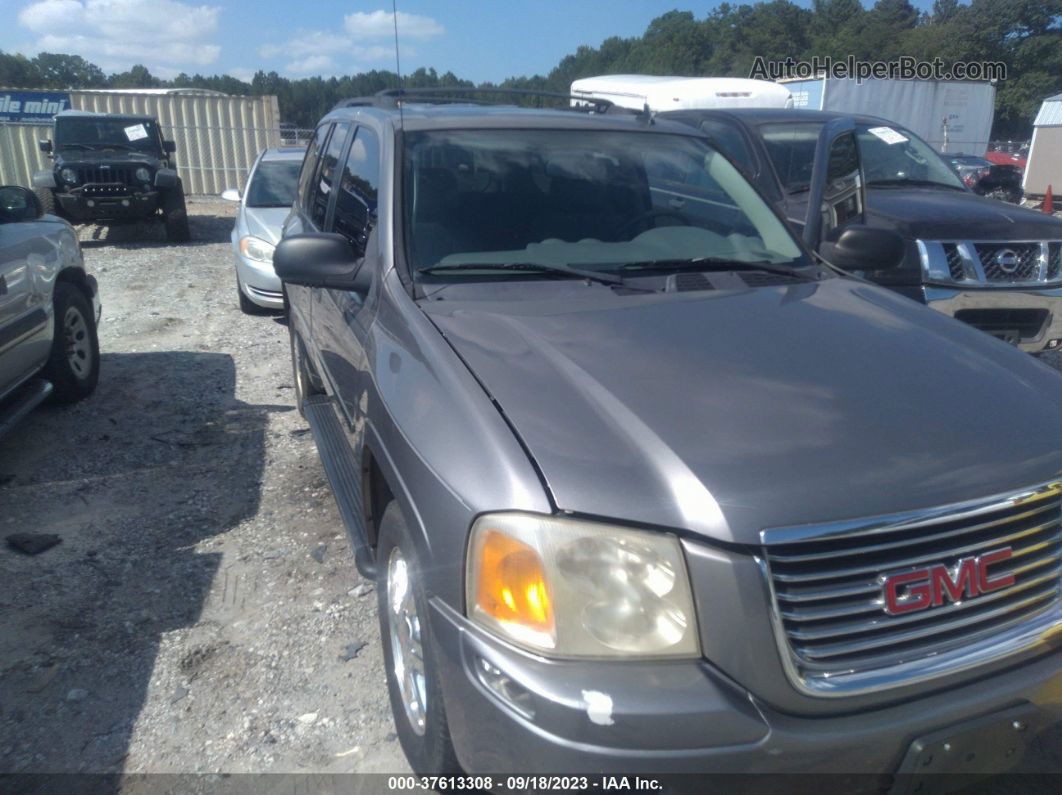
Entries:
[[1062, 240], [1052, 215], [935, 188], [868, 188], [867, 220], [920, 240]]

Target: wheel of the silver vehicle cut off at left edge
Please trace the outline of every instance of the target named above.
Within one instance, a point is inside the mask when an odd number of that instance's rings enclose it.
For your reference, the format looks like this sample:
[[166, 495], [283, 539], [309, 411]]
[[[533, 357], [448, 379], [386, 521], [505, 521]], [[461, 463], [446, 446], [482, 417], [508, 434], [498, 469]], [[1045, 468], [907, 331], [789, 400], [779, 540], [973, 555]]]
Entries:
[[44, 377], [52, 401], [75, 403], [92, 394], [100, 380], [100, 341], [92, 305], [74, 284], [61, 281], [52, 298], [55, 336]]

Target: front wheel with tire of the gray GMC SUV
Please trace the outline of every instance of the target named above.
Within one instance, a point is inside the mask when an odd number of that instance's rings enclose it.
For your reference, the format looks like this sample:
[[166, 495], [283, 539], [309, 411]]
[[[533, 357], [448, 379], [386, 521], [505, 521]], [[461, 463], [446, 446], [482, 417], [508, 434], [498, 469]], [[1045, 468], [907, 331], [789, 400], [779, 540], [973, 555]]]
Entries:
[[380, 521], [376, 560], [380, 638], [398, 741], [414, 773], [460, 775], [443, 706], [428, 598], [416, 549], [395, 502]]

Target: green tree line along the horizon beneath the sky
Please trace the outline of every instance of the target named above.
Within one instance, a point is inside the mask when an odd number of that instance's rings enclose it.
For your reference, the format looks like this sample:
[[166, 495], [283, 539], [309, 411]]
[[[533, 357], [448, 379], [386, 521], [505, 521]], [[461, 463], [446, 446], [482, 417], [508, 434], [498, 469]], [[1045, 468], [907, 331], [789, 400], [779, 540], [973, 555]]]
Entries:
[[[813, 55], [891, 61], [901, 55], [930, 61], [996, 62], [1007, 66], [997, 86], [993, 135], [1026, 137], [1044, 98], [1062, 92], [1062, 0], [936, 0], [918, 11], [909, 0], [813, 0], [804, 8], [790, 0], [723, 3], [698, 17], [672, 11], [653, 19], [640, 36], [605, 39], [566, 55], [548, 74], [513, 76], [479, 88], [567, 92], [571, 82], [596, 74], [639, 73], [748, 76], [757, 55], [767, 61]], [[143, 66], [105, 74], [80, 55], [40, 53], [33, 58], [0, 52], [0, 85], [12, 88], [208, 88], [232, 94], [276, 94], [280, 116], [312, 126], [339, 100], [382, 89], [473, 87], [452, 72], [421, 68], [399, 81], [374, 70], [345, 76], [290, 79], [258, 71], [250, 83], [230, 75], [154, 76]]]

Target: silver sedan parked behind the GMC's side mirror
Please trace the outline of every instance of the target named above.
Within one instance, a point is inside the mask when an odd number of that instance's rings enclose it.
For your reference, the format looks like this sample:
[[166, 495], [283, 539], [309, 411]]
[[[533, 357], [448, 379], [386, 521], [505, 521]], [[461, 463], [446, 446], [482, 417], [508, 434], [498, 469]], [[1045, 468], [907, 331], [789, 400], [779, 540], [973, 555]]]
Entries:
[[273, 271], [273, 247], [295, 198], [305, 154], [306, 150], [296, 148], [267, 149], [255, 160], [243, 195], [233, 188], [221, 194], [240, 203], [233, 227], [233, 256], [240, 309], [247, 314], [284, 308], [280, 279]]

